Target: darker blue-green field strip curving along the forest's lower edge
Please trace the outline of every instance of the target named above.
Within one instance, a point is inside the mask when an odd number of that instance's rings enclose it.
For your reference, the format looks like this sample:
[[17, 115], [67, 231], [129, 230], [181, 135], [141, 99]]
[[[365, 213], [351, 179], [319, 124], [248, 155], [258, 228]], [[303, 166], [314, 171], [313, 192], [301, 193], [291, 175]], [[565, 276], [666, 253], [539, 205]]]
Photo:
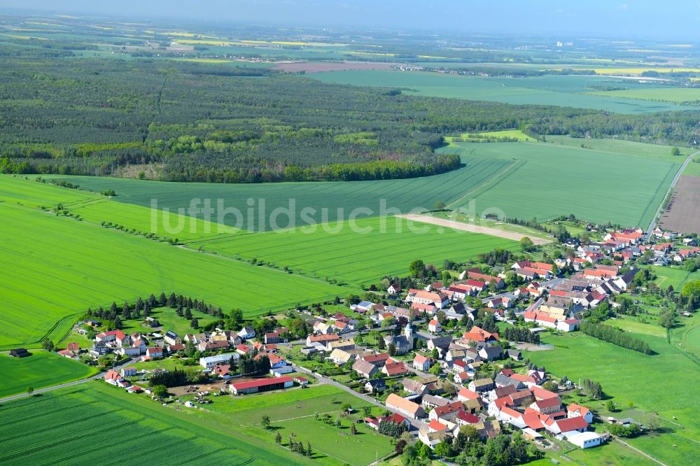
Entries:
[[[292, 214], [291, 224], [284, 215], [277, 218], [281, 228], [346, 219], [357, 208], [371, 210], [371, 213], [358, 211], [361, 217], [427, 211], [433, 209], [437, 202], [448, 203], [458, 199], [470, 186], [488, 183], [509, 167], [512, 161], [463, 158], [462, 163], [465, 166], [461, 169], [435, 176], [347, 183], [319, 181], [226, 185], [90, 176], [47, 175], [45, 178], [65, 179], [95, 192], [113, 189], [117, 192], [113, 200], [128, 204], [150, 207], [151, 199], [155, 198], [158, 199], [158, 209], [167, 208], [171, 212], [187, 209], [194, 198], [211, 199], [213, 206], [221, 199], [224, 209], [235, 209], [238, 215], [218, 210], [214, 214], [218, 223], [264, 232], [270, 230], [269, 216], [277, 208], [290, 209]], [[253, 206], [248, 204], [248, 199], [251, 199]], [[305, 208], [313, 210], [302, 216], [302, 209]], [[264, 216], [260, 216], [261, 210]], [[226, 215], [218, 218], [219, 213]]]

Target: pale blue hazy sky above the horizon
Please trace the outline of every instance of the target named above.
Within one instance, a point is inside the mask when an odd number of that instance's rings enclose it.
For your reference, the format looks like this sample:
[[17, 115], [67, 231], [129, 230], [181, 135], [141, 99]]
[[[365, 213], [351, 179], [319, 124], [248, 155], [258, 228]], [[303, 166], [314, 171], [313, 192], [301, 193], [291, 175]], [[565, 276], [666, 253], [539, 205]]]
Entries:
[[698, 0], [2, 0], [2, 7], [290, 27], [700, 40]]

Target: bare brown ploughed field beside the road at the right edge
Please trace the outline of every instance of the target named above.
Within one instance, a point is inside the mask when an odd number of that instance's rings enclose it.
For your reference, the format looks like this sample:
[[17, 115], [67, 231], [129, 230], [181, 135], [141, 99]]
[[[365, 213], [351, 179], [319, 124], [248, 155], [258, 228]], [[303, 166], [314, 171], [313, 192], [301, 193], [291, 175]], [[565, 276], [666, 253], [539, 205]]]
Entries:
[[700, 233], [700, 177], [680, 177], [660, 225], [672, 232]]

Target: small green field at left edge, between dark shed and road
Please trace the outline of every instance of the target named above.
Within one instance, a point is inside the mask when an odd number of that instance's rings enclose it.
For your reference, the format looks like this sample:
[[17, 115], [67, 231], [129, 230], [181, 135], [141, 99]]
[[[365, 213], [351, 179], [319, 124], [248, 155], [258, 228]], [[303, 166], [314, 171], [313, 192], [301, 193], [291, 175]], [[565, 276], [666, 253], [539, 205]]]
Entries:
[[97, 374], [97, 369], [69, 360], [56, 353], [31, 351], [27, 358], [0, 354], [0, 397], [24, 393], [27, 387], [43, 388]]

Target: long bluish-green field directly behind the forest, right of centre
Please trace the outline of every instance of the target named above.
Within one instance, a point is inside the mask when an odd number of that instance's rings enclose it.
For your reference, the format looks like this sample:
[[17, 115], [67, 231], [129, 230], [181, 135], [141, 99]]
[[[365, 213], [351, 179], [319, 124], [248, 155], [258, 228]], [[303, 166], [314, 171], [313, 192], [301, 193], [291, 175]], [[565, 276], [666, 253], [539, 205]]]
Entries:
[[[483, 78], [407, 71], [333, 71], [331, 73], [314, 73], [309, 77], [325, 83], [400, 87], [405, 89], [405, 94], [409, 95], [486, 100], [507, 104], [593, 108], [615, 113], [650, 113], [696, 108], [647, 99], [589, 94], [591, 92], [589, 86], [603, 84], [603, 78], [582, 76]], [[611, 80], [610, 78], [604, 79]], [[615, 80], [615, 82], [617, 81]], [[628, 84], [625, 83], [625, 85]]]

